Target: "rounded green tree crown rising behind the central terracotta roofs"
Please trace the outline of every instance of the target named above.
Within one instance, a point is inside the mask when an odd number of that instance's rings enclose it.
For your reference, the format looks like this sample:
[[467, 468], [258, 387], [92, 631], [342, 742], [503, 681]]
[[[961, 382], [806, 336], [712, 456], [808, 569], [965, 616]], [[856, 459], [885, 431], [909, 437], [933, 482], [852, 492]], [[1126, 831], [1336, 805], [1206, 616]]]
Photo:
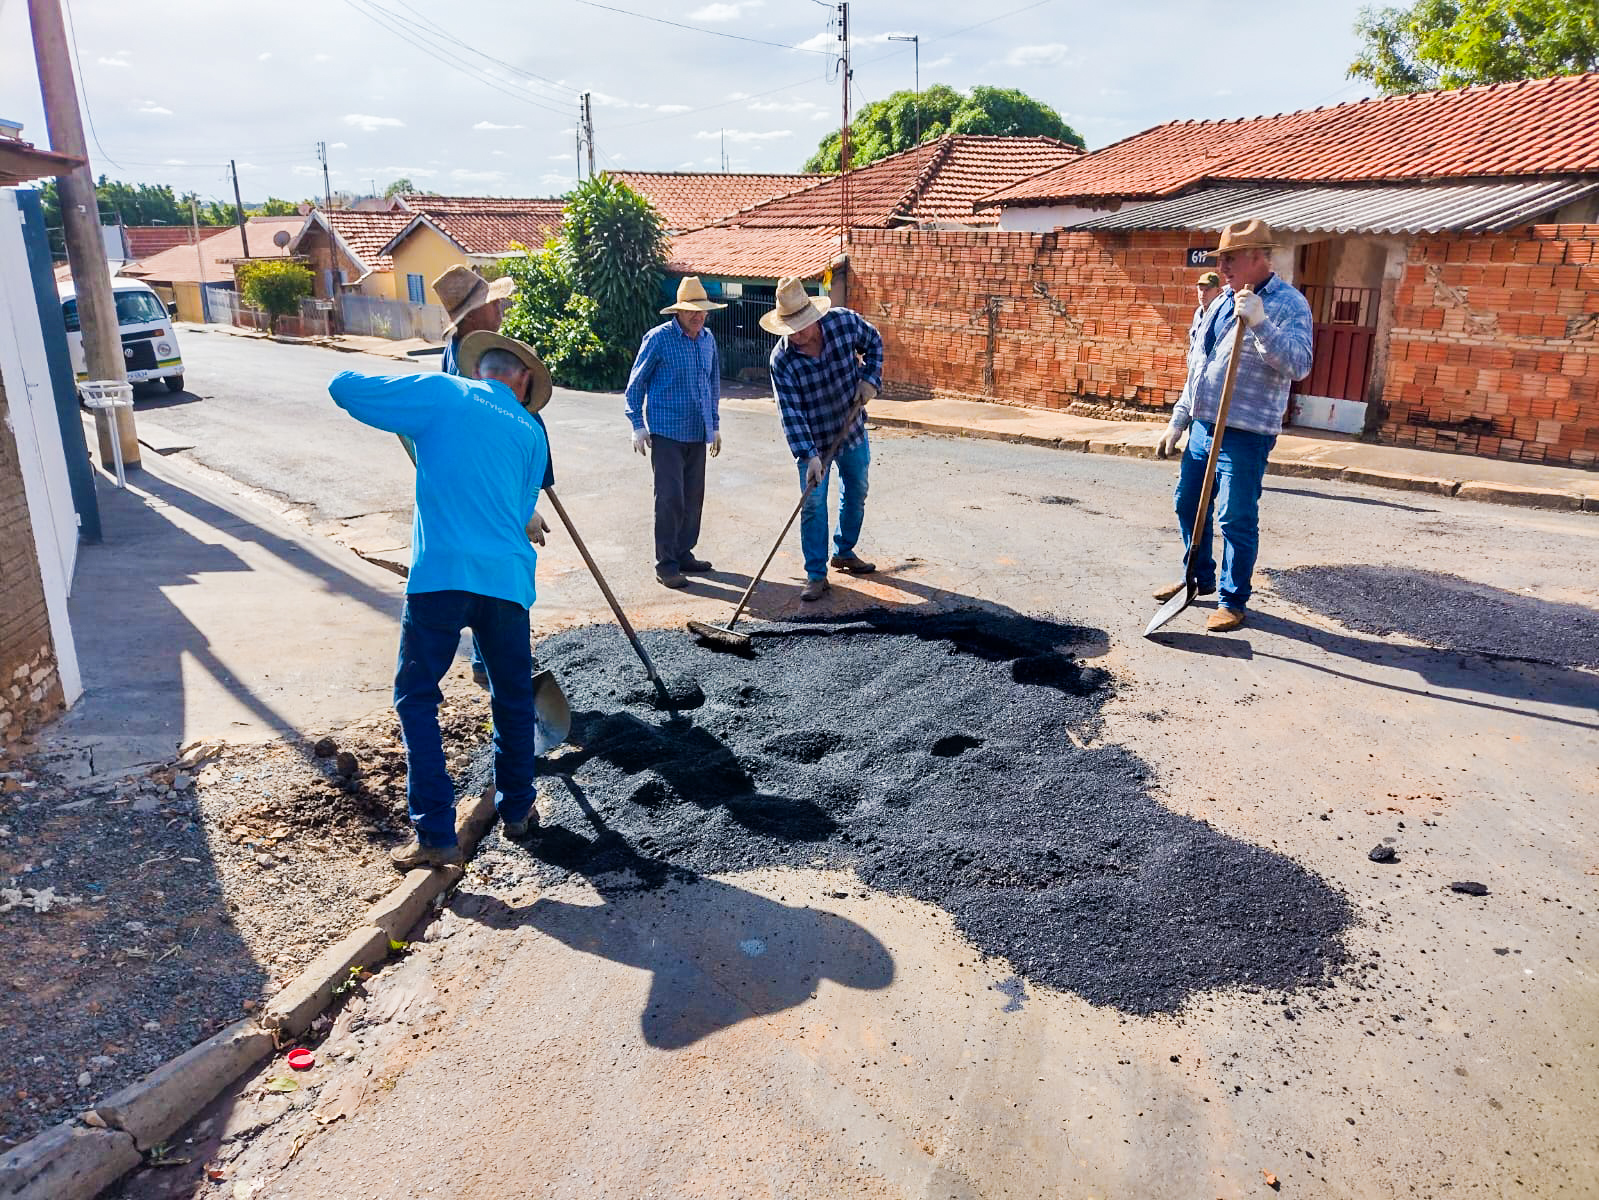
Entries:
[[[895, 91], [886, 99], [860, 107], [849, 125], [849, 165], [865, 166], [891, 154], [908, 150], [921, 141], [947, 133], [982, 133], [998, 138], [1059, 138], [1083, 146], [1083, 138], [1060, 114], [1015, 88], [975, 86], [961, 93], [934, 83], [916, 96]], [[839, 136], [833, 130], [806, 160], [807, 171], [839, 168]]]

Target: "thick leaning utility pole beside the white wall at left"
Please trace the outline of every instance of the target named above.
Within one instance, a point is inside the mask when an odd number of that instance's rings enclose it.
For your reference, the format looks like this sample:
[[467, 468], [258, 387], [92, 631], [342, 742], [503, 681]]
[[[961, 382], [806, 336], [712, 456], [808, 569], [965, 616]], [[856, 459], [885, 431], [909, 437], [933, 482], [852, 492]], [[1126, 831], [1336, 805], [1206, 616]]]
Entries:
[[[88, 147], [83, 144], [83, 115], [78, 112], [78, 91], [72, 78], [72, 56], [67, 51], [61, 0], [27, 0], [27, 16], [34, 30], [34, 61], [38, 64], [38, 90], [45, 101], [50, 149], [80, 163], [70, 173], [58, 176], [56, 187], [61, 190], [61, 224], [67, 243], [67, 262], [72, 264], [72, 286], [78, 299], [78, 323], [83, 330], [83, 360], [90, 379], [128, 382], [122, 328], [117, 323], [117, 298], [110, 290], [99, 198], [94, 194]], [[101, 462], [115, 459], [112, 445], [115, 437], [122, 445], [123, 467], [139, 466], [139, 437], [134, 430], [133, 408], [94, 410], [94, 432]]]

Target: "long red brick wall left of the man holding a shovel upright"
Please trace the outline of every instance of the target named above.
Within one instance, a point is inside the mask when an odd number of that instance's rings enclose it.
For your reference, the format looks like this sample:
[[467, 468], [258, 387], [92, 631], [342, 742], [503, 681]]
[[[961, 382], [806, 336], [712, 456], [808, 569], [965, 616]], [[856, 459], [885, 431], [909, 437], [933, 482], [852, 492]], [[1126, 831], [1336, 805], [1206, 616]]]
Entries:
[[1161, 416], [1183, 386], [1188, 240], [855, 230], [849, 304], [883, 333], [889, 395]]

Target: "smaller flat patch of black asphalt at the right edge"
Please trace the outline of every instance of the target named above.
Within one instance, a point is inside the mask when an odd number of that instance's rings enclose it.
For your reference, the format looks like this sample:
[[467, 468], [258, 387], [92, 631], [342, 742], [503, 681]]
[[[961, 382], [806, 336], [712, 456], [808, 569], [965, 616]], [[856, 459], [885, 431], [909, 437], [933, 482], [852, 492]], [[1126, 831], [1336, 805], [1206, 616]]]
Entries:
[[1442, 650], [1599, 667], [1599, 613], [1407, 566], [1318, 565], [1271, 571], [1271, 589], [1362, 634]]

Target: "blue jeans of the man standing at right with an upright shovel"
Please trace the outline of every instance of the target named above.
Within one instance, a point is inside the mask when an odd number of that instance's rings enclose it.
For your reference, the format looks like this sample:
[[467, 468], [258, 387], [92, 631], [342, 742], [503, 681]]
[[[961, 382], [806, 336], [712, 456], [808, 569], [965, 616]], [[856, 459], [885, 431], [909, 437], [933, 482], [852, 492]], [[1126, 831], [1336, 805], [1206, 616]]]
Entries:
[[1255, 555], [1260, 552], [1260, 486], [1266, 478], [1266, 456], [1276, 443], [1274, 434], [1250, 434], [1247, 429], [1228, 429], [1222, 435], [1215, 491], [1198, 546], [1194, 515], [1199, 509], [1199, 488], [1204, 485], [1204, 461], [1210, 453], [1209, 422], [1194, 421], [1188, 427], [1188, 451], [1177, 477], [1177, 523], [1183, 530], [1183, 547], [1193, 546], [1194, 581], [1201, 590], [1210, 590], [1217, 584], [1210, 530], [1220, 522], [1222, 606], [1239, 613], [1249, 605], [1249, 581], [1255, 574]]

